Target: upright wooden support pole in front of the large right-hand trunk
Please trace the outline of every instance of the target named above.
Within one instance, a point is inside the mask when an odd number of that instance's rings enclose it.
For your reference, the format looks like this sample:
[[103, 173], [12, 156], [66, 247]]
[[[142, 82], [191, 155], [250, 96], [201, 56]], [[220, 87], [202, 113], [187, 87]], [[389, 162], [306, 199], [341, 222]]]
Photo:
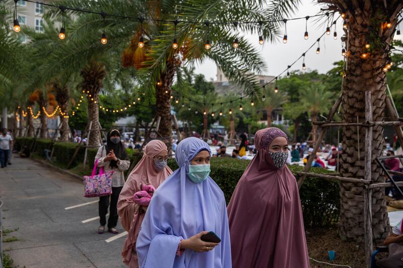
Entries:
[[[365, 92], [365, 121], [372, 121], [372, 98], [371, 92]], [[365, 129], [365, 160], [364, 160], [364, 179], [371, 183], [372, 166], [372, 127]], [[364, 225], [365, 225], [365, 264], [367, 268], [371, 267], [371, 254], [373, 250], [372, 237], [372, 189], [364, 190]]]

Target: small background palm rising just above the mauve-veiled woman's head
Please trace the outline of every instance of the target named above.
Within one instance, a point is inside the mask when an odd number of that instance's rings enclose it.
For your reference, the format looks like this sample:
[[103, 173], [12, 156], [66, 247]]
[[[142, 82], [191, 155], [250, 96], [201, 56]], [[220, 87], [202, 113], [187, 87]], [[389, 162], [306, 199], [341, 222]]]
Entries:
[[[264, 98], [263, 98], [264, 97]], [[263, 101], [264, 100], [264, 101]], [[272, 125], [272, 112], [287, 102], [287, 93], [284, 91], [276, 92], [274, 86], [265, 86], [263, 96], [259, 107], [266, 110], [267, 127]]]

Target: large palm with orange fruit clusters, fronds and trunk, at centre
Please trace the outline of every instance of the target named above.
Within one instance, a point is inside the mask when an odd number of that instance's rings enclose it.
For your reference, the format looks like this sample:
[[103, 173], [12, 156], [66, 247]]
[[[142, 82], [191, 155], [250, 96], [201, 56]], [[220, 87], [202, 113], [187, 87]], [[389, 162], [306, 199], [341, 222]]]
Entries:
[[[109, 16], [103, 18], [95, 14], [82, 14], [78, 16], [77, 31], [72, 35], [81, 36], [85, 40], [96, 42], [100, 32], [105, 31], [108, 35], [109, 44], [105, 50], [115, 49], [115, 44], [124, 44], [125, 50], [121, 51], [124, 66], [133, 66], [138, 72], [137, 78], [147, 94], [155, 94], [157, 115], [161, 116], [159, 132], [163, 136], [171, 136], [171, 86], [175, 74], [183, 65], [192, 65], [206, 58], [214, 60], [220, 65], [227, 77], [237, 82], [250, 93], [258, 89], [251, 72], [258, 73], [265, 68], [262, 58], [258, 55], [249, 42], [242, 36], [236, 36], [233, 21], [262, 20], [273, 21], [283, 19], [291, 9], [299, 3], [298, 0], [275, 1], [266, 6], [266, 1], [236, 1], [231, 5], [219, 0], [198, 0], [178, 3], [172, 0], [158, 2], [133, 2], [117, 0], [101, 0], [96, 3], [82, 0], [61, 0], [57, 5], [75, 6], [81, 9], [103, 11], [106, 14], [119, 14], [130, 17], [145, 17], [157, 19], [145, 21], [143, 25], [137, 20], [119, 21]], [[264, 8], [265, 7], [265, 8]], [[59, 14], [59, 12], [58, 12]], [[177, 25], [176, 39], [178, 49], [172, 48], [174, 39], [174, 21], [196, 21], [196, 24], [179, 23]], [[167, 23], [159, 20], [169, 20]], [[207, 27], [203, 23], [206, 20], [226, 22], [227, 24], [214, 24], [210, 26], [211, 50], [204, 48], [207, 38]], [[143, 26], [143, 27], [142, 27]], [[279, 33], [280, 23], [263, 23], [262, 31], [266, 40], [273, 41]], [[241, 25], [242, 31], [256, 32], [259, 25]], [[133, 29], [136, 30], [133, 33]], [[144, 29], [143, 48], [139, 48], [141, 29]], [[97, 35], [93, 33], [97, 32]], [[239, 39], [239, 49], [234, 50], [232, 43], [235, 38]], [[81, 53], [89, 55], [92, 51], [82, 50]], [[75, 57], [78, 57], [78, 53]], [[63, 60], [70, 61], [69, 56]], [[156, 86], [159, 82], [159, 86]]]

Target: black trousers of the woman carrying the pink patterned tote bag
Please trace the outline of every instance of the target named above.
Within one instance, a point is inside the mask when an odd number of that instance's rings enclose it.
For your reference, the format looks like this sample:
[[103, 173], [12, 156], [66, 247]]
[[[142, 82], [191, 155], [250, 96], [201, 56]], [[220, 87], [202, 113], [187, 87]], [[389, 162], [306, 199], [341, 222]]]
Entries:
[[117, 200], [119, 199], [120, 191], [123, 187], [112, 187], [112, 194], [108, 196], [99, 197], [98, 210], [99, 210], [99, 222], [101, 226], [106, 224], [106, 214], [108, 213], [109, 207], [109, 197], [110, 197], [110, 208], [109, 208], [109, 219], [108, 228], [114, 228], [117, 224]]

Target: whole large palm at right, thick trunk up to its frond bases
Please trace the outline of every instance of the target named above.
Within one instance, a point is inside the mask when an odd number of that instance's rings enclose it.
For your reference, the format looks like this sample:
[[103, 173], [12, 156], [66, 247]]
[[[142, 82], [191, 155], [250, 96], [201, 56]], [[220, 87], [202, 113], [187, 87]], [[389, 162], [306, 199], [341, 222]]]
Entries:
[[[403, 9], [400, 0], [318, 0], [330, 11], [346, 15], [347, 66], [343, 83], [342, 121], [345, 123], [365, 121], [365, 91], [372, 95], [373, 121], [382, 121], [385, 110], [386, 73], [384, 66], [389, 63], [390, 43], [399, 22], [398, 14]], [[367, 50], [365, 45], [369, 43]], [[363, 53], [368, 53], [363, 55]], [[384, 182], [382, 169], [375, 157], [382, 153], [383, 128], [372, 128], [372, 172], [371, 180]], [[357, 127], [343, 127], [343, 153], [340, 172], [343, 176], [363, 177], [364, 161], [358, 159], [358, 149], [365, 152], [364, 132], [358, 137]], [[358, 142], [360, 140], [360, 142]], [[363, 155], [364, 153], [362, 153]], [[341, 184], [341, 233], [348, 238], [364, 234], [362, 187], [351, 183]], [[384, 191], [373, 190], [372, 225], [374, 236], [380, 239], [388, 235], [388, 217]], [[358, 227], [360, 226], [360, 227]]]

